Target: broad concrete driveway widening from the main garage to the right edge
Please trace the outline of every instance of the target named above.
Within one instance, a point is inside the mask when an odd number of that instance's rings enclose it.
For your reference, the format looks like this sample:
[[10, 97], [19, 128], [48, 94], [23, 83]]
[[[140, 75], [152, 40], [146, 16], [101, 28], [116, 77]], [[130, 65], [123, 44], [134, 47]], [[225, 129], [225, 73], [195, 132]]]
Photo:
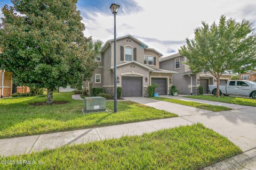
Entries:
[[144, 97], [127, 97], [125, 99], [176, 113], [180, 117], [193, 123], [203, 123], [206, 127], [227, 137], [244, 152], [256, 148], [256, 107], [212, 103], [206, 100], [200, 101], [212, 105], [221, 104], [222, 106], [233, 108], [231, 111], [211, 112]]

